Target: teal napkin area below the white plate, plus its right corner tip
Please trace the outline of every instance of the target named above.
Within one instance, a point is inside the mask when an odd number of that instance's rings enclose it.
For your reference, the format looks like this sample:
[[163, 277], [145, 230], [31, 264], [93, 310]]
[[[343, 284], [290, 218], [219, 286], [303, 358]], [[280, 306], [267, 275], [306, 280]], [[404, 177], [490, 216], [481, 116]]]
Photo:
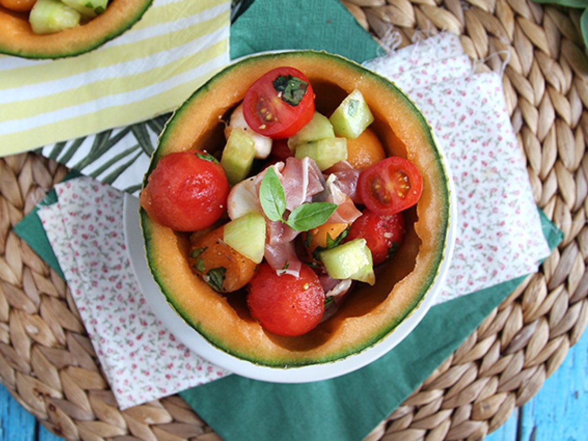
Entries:
[[[541, 213], [550, 248], [563, 235]], [[390, 415], [524, 278], [433, 306], [400, 345], [365, 368], [280, 385], [231, 375], [179, 395], [226, 440], [360, 440]]]

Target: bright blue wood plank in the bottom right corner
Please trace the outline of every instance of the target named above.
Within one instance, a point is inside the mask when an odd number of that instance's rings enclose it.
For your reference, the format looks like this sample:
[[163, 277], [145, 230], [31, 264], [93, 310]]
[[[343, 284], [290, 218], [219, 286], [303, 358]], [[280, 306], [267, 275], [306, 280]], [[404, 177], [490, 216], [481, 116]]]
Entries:
[[520, 441], [588, 439], [588, 332], [559, 369], [522, 407]]

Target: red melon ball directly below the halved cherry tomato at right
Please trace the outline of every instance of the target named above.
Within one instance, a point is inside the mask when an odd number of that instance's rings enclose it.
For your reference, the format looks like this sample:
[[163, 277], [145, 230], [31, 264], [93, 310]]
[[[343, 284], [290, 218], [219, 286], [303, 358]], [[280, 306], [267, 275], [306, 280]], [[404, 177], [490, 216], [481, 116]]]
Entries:
[[393, 215], [376, 215], [364, 210], [349, 228], [345, 242], [352, 239], [364, 238], [372, 252], [374, 265], [386, 262], [402, 243], [405, 235], [404, 216], [402, 213]]

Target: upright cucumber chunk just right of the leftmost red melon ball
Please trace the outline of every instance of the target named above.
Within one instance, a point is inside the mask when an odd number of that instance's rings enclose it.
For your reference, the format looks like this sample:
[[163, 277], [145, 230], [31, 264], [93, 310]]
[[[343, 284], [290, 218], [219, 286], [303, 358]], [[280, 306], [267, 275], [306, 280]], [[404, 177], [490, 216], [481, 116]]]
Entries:
[[253, 165], [253, 139], [243, 129], [233, 129], [220, 158], [230, 185], [243, 181]]

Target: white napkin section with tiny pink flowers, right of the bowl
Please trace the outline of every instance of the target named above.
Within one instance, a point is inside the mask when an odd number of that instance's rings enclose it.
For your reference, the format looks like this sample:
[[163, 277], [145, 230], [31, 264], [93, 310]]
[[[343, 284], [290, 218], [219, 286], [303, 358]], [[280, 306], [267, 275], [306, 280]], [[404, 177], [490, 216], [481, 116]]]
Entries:
[[500, 76], [473, 74], [459, 37], [449, 33], [368, 67], [394, 81], [423, 112], [453, 174], [457, 240], [437, 303], [536, 271], [550, 251]]

